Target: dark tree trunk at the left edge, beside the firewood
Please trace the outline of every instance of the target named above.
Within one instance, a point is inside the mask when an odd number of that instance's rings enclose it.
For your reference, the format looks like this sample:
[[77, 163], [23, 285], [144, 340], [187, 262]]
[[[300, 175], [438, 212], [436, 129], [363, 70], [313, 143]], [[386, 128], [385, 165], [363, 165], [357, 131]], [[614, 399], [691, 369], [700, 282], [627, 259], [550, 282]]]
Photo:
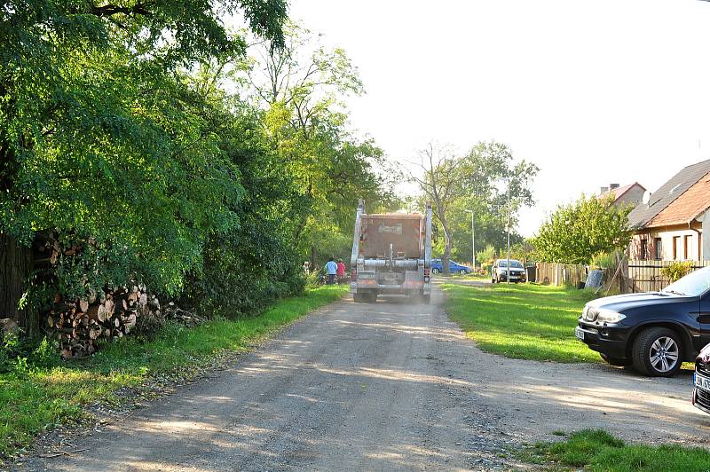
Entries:
[[32, 259], [32, 248], [0, 232], [0, 318], [14, 319], [27, 335], [35, 334], [37, 317], [28, 309], [20, 310], [18, 303], [26, 290]]

